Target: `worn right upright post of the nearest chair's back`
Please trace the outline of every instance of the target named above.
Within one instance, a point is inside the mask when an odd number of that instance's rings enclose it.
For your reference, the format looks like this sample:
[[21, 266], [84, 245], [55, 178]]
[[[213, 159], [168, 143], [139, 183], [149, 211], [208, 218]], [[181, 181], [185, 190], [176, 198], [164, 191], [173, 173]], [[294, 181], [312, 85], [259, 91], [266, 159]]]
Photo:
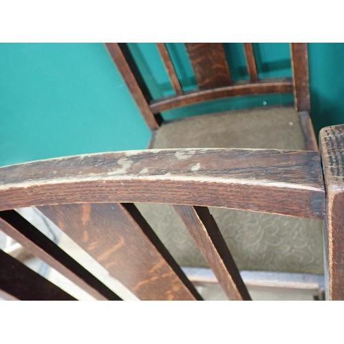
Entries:
[[326, 189], [325, 287], [327, 299], [344, 300], [344, 125], [319, 136]]

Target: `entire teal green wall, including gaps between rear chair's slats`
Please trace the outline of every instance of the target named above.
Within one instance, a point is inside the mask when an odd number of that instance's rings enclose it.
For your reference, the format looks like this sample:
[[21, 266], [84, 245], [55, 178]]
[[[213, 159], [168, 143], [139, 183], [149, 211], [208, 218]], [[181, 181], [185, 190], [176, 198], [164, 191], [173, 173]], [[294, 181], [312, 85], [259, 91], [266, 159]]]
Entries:
[[[184, 90], [195, 78], [182, 43], [167, 45]], [[224, 45], [234, 80], [248, 78], [239, 43]], [[154, 97], [173, 93], [153, 43], [131, 43]], [[254, 45], [259, 76], [290, 76], [286, 43]], [[344, 44], [310, 43], [311, 116], [316, 133], [344, 122]], [[63, 155], [142, 149], [149, 130], [105, 47], [0, 44], [0, 165]], [[292, 102], [290, 95], [238, 97], [165, 111], [165, 119]]]

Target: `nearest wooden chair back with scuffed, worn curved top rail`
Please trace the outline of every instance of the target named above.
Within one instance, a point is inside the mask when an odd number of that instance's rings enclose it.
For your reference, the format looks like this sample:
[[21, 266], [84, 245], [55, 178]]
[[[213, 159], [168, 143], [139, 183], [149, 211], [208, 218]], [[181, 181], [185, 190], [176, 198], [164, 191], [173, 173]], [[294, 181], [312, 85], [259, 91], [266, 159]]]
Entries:
[[[140, 299], [200, 300], [133, 202], [174, 204], [228, 298], [248, 300], [207, 207], [325, 219], [327, 298], [344, 299], [343, 137], [344, 125], [323, 129], [321, 156], [277, 149], [151, 149], [5, 166], [0, 229], [97, 299], [118, 300], [13, 210], [36, 206]], [[74, 299], [1, 251], [0, 290], [12, 299]]]

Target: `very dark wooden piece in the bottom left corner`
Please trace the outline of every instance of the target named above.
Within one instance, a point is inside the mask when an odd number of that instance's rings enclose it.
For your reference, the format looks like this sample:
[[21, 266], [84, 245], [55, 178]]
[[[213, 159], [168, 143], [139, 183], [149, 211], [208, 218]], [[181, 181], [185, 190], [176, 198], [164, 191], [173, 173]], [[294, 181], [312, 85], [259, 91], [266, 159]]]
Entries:
[[74, 297], [0, 250], [0, 290], [12, 299], [72, 301]]

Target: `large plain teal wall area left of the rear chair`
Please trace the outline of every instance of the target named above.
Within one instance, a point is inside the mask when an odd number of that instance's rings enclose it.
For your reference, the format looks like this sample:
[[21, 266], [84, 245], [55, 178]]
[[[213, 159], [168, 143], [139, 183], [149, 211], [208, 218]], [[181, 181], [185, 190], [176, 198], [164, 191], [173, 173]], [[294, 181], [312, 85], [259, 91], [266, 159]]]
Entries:
[[0, 44], [0, 164], [142, 149], [149, 129], [102, 44]]

